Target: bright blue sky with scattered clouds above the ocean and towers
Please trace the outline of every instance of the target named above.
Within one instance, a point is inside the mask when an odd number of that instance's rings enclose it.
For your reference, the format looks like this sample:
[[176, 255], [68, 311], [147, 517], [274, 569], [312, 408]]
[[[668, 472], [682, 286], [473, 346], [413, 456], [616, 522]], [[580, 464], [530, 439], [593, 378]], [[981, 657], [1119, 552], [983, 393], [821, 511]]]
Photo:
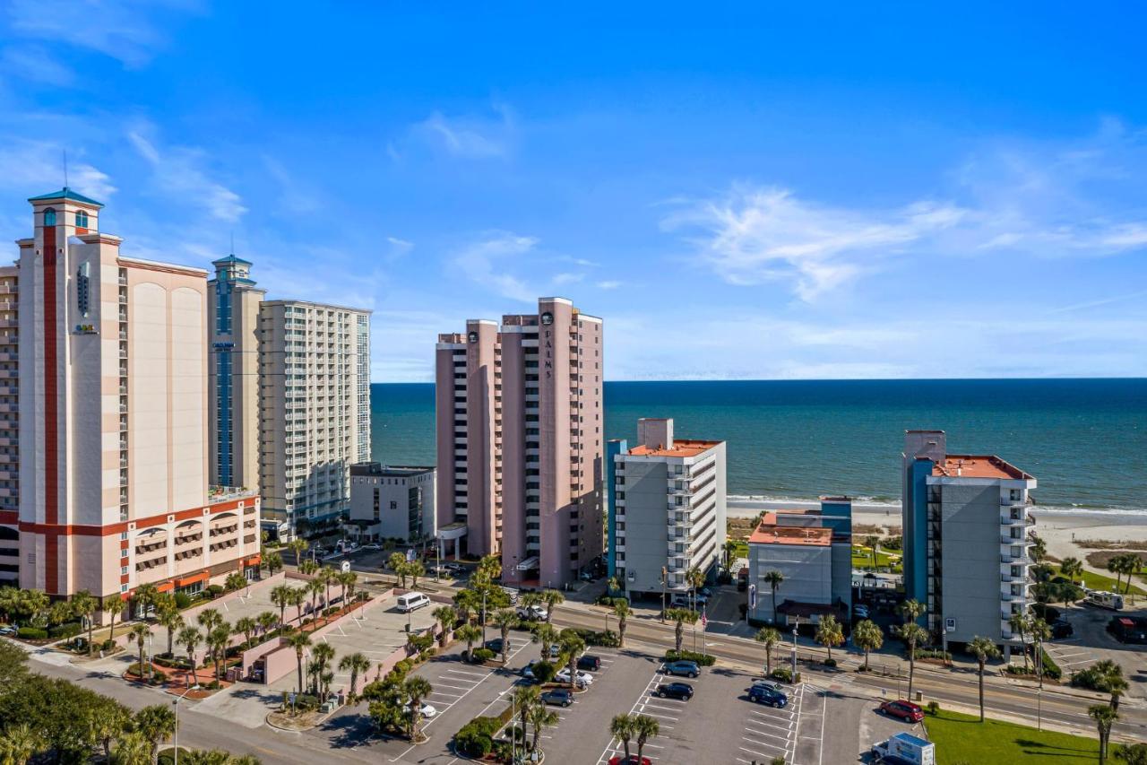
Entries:
[[1141, 6], [478, 5], [8, 0], [0, 235], [67, 148], [379, 381], [552, 294], [608, 379], [1147, 374]]

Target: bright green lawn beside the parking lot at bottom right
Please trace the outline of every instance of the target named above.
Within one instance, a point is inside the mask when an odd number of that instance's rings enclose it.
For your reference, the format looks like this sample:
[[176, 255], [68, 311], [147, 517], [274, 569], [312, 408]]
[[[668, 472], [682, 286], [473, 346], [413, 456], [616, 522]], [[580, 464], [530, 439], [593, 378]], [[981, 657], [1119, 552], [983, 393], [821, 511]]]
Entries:
[[924, 717], [928, 739], [936, 744], [937, 765], [957, 763], [1056, 763], [1094, 765], [1099, 741], [1067, 733], [1037, 731], [1024, 725], [941, 710]]

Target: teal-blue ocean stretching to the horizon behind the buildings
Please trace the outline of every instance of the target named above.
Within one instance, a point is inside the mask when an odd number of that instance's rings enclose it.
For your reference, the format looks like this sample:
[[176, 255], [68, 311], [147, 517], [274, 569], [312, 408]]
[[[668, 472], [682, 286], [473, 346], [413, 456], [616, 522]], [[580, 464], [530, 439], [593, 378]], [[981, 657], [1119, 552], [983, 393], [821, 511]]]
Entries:
[[[1045, 508], [1147, 510], [1147, 379], [606, 382], [607, 438], [672, 417], [727, 442], [728, 493], [849, 494], [898, 503], [904, 431], [941, 428], [953, 454], [997, 454], [1039, 481]], [[370, 386], [374, 458], [435, 463], [434, 385]]]

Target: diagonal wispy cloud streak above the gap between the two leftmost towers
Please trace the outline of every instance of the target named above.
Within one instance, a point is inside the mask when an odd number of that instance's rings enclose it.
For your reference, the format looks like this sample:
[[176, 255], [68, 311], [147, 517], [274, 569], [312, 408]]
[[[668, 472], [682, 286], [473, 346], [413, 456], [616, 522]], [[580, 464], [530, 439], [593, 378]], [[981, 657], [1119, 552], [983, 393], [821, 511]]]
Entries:
[[206, 175], [202, 165], [206, 154], [197, 148], [161, 147], [150, 124], [139, 124], [127, 138], [139, 155], [151, 165], [153, 179], [164, 192], [177, 194], [180, 201], [205, 210], [211, 217], [226, 223], [239, 221], [247, 208], [239, 194]]

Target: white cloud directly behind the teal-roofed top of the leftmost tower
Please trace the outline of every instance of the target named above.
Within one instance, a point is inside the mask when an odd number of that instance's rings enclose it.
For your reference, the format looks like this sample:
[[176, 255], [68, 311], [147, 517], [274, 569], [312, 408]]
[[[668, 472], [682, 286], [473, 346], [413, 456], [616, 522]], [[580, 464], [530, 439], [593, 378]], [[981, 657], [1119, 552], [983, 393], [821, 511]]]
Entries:
[[[0, 186], [40, 194], [64, 185], [63, 146], [50, 141], [8, 138], [0, 142]], [[77, 157], [68, 159], [68, 185], [106, 202], [116, 193], [108, 173]]]

